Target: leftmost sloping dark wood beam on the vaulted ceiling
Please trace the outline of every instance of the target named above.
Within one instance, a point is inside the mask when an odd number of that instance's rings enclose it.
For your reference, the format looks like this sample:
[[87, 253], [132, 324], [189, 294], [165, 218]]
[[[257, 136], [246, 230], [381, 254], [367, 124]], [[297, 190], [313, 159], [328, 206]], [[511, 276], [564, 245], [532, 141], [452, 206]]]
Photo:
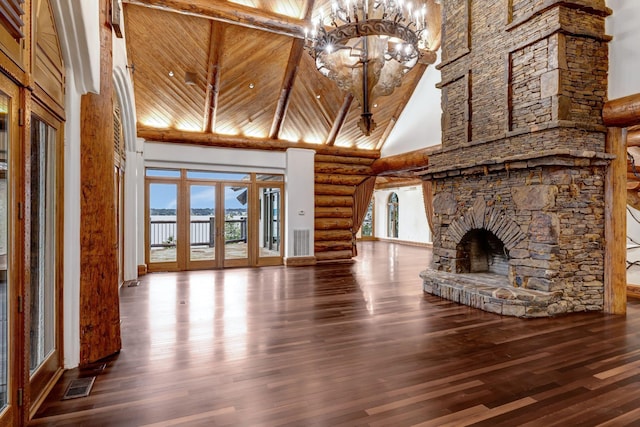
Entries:
[[220, 93], [220, 58], [224, 39], [224, 24], [211, 22], [211, 37], [209, 41], [209, 69], [207, 70], [207, 93], [204, 109], [204, 130], [211, 133], [216, 128], [218, 112], [218, 95]]

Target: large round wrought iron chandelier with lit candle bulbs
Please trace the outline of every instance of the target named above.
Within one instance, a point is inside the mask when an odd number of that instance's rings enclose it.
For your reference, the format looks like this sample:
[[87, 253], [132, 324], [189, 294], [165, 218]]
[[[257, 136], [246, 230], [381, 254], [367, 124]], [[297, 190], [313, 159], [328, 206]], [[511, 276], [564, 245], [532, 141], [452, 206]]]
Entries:
[[367, 136], [376, 127], [373, 101], [400, 86], [429, 48], [427, 35], [426, 5], [407, 0], [334, 0], [328, 17], [321, 13], [305, 30], [318, 71], [360, 103], [359, 126]]

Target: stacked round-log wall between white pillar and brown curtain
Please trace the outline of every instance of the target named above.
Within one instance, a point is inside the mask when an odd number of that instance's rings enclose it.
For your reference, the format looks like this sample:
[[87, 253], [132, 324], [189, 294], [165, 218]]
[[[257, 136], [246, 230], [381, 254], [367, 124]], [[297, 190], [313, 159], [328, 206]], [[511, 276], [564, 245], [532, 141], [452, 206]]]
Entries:
[[349, 260], [353, 256], [353, 195], [373, 175], [375, 159], [316, 154], [315, 242], [317, 261]]

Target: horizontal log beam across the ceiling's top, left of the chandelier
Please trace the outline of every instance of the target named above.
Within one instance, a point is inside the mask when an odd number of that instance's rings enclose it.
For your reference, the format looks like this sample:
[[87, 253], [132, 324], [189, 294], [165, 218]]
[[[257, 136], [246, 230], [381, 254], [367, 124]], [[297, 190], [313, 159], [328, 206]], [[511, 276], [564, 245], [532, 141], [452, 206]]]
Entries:
[[123, 0], [124, 3], [199, 16], [304, 39], [308, 23], [302, 19], [265, 12], [226, 0]]

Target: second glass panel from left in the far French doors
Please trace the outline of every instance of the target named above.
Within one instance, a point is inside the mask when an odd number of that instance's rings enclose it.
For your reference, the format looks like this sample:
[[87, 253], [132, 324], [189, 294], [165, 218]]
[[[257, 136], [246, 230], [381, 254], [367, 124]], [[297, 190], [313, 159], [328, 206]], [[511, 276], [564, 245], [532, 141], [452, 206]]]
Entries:
[[189, 186], [189, 261], [216, 259], [216, 186]]

